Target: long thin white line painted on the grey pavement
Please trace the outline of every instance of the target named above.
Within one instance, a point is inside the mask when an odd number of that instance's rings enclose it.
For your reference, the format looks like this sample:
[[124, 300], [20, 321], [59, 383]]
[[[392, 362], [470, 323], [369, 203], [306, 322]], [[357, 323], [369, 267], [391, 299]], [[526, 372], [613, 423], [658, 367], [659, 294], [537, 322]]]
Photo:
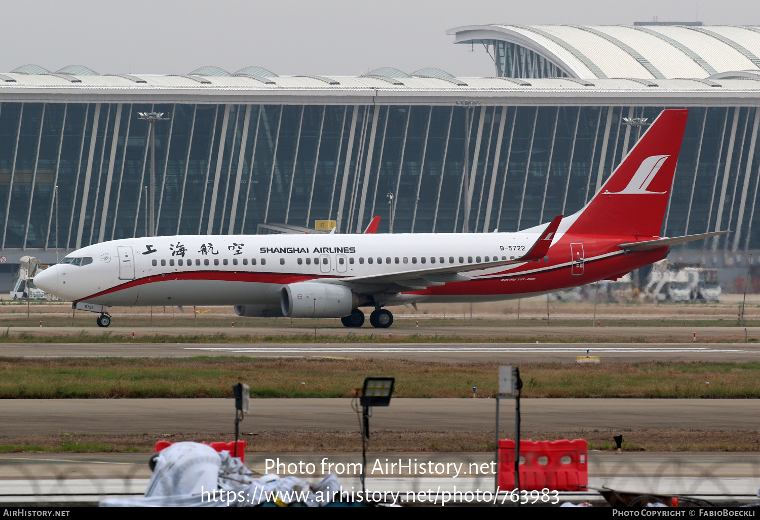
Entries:
[[[323, 352], [347, 352], [347, 353], [429, 353], [429, 352], [504, 352], [504, 353], [566, 353], [586, 354], [585, 348], [580, 347], [177, 347], [183, 350], [204, 350], [206, 352], [240, 352], [240, 353], [323, 353]], [[597, 347], [591, 351], [612, 353], [660, 353], [660, 354], [760, 354], [758, 350], [722, 349], [712, 347]]]

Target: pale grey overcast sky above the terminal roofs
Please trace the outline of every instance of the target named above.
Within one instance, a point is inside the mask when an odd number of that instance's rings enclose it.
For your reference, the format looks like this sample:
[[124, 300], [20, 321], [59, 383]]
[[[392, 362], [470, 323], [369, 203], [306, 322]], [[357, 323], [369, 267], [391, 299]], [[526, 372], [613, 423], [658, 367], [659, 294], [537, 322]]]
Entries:
[[[0, 71], [33, 63], [106, 73], [187, 74], [201, 65], [280, 75], [359, 75], [391, 66], [493, 74], [483, 47], [446, 36], [469, 24], [693, 21], [690, 0], [0, 0]], [[749, 0], [698, 3], [705, 24], [758, 24]]]

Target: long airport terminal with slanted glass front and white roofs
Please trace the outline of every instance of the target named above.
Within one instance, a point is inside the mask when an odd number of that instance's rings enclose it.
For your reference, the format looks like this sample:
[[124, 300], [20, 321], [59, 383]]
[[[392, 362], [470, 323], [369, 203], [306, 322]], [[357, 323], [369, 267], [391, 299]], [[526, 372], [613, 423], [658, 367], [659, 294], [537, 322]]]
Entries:
[[[664, 108], [690, 109], [663, 234], [746, 272], [760, 249], [760, 27], [458, 27], [490, 78], [436, 68], [279, 76], [25, 65], [0, 74], [0, 255], [144, 236], [149, 125], [160, 235], [515, 231], [578, 210]], [[480, 55], [480, 59], [486, 59]], [[57, 189], [55, 188], [57, 186]], [[0, 258], [2, 261], [2, 258]]]

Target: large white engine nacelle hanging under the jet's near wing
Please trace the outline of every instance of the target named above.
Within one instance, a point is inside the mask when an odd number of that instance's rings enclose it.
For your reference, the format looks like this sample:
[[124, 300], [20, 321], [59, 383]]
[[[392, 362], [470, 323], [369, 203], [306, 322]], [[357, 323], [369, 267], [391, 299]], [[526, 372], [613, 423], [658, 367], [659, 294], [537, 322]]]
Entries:
[[282, 313], [288, 318], [340, 318], [358, 303], [356, 294], [344, 285], [298, 282], [280, 291]]

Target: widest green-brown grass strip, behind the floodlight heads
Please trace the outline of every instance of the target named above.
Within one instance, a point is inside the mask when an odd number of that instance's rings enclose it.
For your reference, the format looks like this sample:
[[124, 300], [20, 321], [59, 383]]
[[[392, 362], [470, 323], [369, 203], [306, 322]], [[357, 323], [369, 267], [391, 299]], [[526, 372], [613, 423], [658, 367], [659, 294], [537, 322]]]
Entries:
[[[499, 364], [372, 358], [0, 358], [0, 398], [348, 398], [366, 374], [397, 398], [497, 390]], [[760, 398], [760, 363], [521, 363], [524, 398]], [[709, 385], [706, 384], [709, 382]], [[302, 384], [303, 383], [303, 384]]]

